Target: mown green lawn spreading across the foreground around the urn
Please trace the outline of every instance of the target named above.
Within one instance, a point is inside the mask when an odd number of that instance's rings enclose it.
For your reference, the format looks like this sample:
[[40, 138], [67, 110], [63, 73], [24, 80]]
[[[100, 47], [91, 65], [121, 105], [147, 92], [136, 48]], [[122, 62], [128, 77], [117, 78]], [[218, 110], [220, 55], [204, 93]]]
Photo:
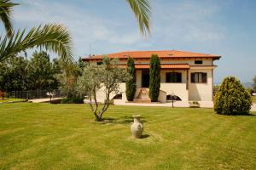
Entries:
[[111, 106], [100, 123], [86, 105], [0, 105], [0, 169], [256, 169], [254, 115]]

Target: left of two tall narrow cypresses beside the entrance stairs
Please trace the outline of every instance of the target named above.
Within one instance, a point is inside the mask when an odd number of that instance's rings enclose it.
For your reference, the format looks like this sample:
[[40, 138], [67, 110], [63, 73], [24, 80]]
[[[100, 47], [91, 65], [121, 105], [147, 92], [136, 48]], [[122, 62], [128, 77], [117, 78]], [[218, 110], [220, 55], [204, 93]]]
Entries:
[[126, 98], [128, 101], [132, 101], [136, 93], [136, 69], [134, 65], [134, 59], [129, 57], [127, 60], [127, 73], [131, 76], [131, 79], [126, 80]]

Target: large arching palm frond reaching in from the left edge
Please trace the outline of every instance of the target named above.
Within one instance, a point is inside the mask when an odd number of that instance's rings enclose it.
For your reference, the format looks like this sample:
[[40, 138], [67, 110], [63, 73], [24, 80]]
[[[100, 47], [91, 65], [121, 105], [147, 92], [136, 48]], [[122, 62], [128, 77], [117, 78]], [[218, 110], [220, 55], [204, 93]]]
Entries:
[[15, 31], [0, 40], [0, 61], [28, 48], [45, 48], [58, 54], [65, 62], [73, 61], [73, 43], [67, 29], [62, 25], [49, 24]]

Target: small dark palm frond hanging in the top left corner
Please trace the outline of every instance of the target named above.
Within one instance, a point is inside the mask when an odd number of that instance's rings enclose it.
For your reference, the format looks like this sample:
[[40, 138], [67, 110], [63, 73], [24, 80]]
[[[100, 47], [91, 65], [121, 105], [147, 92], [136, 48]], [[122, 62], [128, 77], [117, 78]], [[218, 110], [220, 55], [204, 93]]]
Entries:
[[11, 23], [12, 8], [18, 3], [12, 3], [10, 0], [0, 0], [0, 20], [2, 20], [4, 28], [10, 36], [12, 34], [13, 26]]

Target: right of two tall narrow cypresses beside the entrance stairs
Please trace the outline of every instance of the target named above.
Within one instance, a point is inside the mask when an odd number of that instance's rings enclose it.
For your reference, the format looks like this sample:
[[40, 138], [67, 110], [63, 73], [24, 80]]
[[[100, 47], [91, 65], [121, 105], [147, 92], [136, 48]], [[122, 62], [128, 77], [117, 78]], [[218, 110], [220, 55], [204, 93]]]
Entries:
[[160, 94], [160, 59], [153, 54], [150, 59], [149, 70], [149, 97], [151, 101], [158, 101]]

